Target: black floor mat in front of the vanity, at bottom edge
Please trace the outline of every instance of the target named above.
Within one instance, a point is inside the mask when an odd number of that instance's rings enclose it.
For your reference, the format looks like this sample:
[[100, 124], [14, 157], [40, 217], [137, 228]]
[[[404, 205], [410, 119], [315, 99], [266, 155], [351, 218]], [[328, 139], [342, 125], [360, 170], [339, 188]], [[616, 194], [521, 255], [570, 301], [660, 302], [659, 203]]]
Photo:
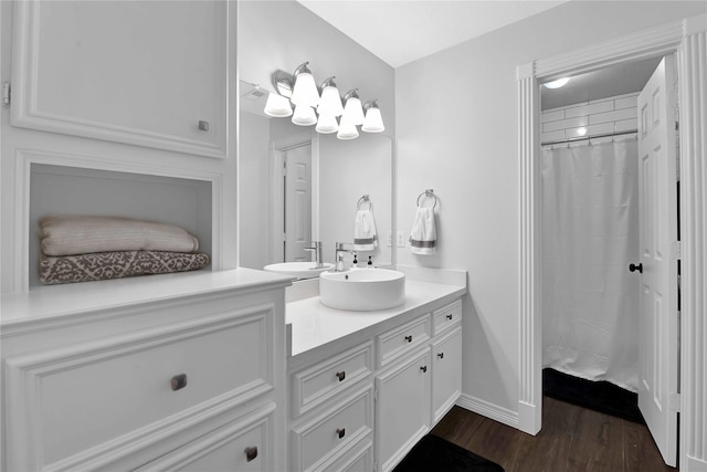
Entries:
[[434, 434], [420, 440], [393, 472], [504, 472], [504, 468]]

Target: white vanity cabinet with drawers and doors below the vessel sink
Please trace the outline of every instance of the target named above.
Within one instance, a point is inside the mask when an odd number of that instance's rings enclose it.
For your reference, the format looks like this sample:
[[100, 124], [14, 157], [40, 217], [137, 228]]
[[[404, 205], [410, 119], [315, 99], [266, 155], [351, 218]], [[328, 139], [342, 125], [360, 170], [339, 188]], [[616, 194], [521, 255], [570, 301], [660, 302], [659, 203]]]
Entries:
[[[454, 406], [462, 388], [462, 301], [437, 303], [289, 358], [288, 470], [390, 471]], [[295, 310], [320, 311], [291, 318], [317, 332], [324, 323], [368, 316], [317, 304]]]

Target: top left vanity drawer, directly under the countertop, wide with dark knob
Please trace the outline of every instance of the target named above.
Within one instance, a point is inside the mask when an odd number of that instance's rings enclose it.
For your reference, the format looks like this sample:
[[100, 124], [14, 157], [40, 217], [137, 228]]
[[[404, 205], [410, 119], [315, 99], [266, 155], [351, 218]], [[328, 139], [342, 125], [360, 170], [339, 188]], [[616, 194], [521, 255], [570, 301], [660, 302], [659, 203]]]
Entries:
[[292, 375], [293, 418], [371, 376], [373, 346], [366, 343]]

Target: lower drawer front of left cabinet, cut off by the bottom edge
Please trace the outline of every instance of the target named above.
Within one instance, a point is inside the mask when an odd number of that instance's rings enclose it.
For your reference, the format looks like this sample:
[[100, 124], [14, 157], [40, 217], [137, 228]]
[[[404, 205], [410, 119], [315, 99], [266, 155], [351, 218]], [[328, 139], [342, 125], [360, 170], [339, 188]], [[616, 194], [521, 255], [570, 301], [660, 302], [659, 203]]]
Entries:
[[275, 405], [225, 426], [136, 469], [147, 471], [265, 472], [273, 470], [270, 448]]

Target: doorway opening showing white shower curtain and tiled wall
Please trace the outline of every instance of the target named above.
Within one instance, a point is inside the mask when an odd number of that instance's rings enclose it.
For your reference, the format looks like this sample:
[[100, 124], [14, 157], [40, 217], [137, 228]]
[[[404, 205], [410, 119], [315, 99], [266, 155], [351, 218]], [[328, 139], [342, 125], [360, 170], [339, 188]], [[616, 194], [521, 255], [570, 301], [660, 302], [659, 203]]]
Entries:
[[635, 270], [645, 187], [639, 97], [661, 61], [540, 87], [544, 394], [637, 422], [641, 352], [650, 354], [640, 348], [650, 329], [641, 329]]

